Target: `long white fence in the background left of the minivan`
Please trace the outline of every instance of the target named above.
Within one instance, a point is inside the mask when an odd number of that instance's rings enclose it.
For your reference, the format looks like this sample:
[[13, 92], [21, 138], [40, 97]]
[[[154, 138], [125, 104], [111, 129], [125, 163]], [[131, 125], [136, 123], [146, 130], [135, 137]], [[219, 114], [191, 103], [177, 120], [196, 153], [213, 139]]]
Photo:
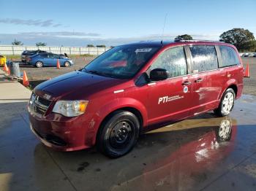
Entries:
[[37, 47], [0, 45], [0, 55], [20, 55], [24, 50], [45, 50], [55, 54], [67, 53], [67, 55], [101, 55], [109, 49], [109, 47]]

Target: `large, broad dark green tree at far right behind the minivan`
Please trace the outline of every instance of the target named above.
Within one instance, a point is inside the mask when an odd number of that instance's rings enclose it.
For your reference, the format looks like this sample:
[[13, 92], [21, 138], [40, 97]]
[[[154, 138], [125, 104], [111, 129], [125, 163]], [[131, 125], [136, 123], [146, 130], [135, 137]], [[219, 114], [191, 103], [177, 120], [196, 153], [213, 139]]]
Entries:
[[233, 28], [219, 36], [219, 41], [233, 44], [239, 52], [253, 52], [256, 48], [255, 36], [244, 28]]

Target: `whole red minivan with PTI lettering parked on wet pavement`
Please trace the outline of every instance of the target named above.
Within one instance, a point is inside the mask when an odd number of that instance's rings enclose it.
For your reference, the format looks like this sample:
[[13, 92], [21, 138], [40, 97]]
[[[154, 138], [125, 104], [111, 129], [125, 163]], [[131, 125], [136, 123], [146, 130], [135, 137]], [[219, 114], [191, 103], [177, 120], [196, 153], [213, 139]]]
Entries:
[[236, 47], [223, 42], [138, 42], [113, 47], [78, 71], [34, 88], [31, 130], [62, 151], [97, 145], [127, 154], [140, 133], [214, 110], [230, 114], [243, 89]]

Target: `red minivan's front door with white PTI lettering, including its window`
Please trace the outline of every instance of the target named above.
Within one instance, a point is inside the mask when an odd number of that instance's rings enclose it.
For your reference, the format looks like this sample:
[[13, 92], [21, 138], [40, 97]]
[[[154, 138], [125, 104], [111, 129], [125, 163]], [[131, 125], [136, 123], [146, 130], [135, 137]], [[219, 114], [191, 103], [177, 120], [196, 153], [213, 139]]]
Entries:
[[174, 122], [189, 116], [192, 106], [192, 83], [187, 75], [184, 47], [162, 52], [149, 70], [166, 69], [170, 78], [148, 84], [148, 125]]

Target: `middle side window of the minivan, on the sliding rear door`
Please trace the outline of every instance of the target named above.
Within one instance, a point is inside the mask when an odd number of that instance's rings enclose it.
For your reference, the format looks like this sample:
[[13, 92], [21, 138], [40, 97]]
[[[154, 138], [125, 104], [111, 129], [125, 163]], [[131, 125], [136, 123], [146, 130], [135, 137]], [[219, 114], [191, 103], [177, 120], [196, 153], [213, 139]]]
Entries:
[[208, 71], [218, 69], [217, 53], [214, 46], [193, 45], [190, 47], [192, 54], [192, 71]]

